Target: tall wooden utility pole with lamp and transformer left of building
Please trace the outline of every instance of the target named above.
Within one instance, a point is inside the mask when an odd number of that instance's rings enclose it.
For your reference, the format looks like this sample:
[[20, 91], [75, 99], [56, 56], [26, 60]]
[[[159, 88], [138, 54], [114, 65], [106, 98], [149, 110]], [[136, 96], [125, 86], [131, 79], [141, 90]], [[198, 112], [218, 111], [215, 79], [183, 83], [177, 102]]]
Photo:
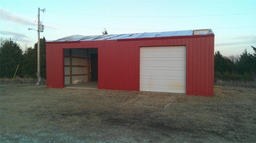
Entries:
[[[42, 10], [43, 12], [45, 12], [45, 9]], [[28, 30], [36, 30], [36, 29], [32, 29], [32, 28], [28, 28]], [[36, 76], [37, 76], [37, 83], [36, 85], [40, 84], [40, 32], [44, 32], [44, 25], [40, 24], [40, 8], [38, 8], [38, 22], [37, 22], [37, 34], [38, 34], [38, 42], [37, 42], [37, 72], [36, 72]]]

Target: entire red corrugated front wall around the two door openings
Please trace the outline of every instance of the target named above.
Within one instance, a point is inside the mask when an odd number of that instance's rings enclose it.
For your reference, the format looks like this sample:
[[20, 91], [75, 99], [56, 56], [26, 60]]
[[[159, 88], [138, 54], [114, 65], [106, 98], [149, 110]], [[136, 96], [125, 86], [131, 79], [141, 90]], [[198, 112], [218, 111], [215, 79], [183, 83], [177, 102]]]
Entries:
[[186, 45], [186, 94], [213, 96], [214, 35], [46, 43], [47, 88], [64, 87], [63, 49], [98, 48], [98, 88], [140, 89], [140, 47]]

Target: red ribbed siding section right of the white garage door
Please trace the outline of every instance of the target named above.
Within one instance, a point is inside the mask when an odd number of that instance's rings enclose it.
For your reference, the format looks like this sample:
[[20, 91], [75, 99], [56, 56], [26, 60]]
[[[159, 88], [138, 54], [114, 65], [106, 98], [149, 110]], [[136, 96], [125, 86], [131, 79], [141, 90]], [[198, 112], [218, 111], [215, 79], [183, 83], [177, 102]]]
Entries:
[[213, 96], [214, 37], [189, 39], [188, 43], [186, 94]]

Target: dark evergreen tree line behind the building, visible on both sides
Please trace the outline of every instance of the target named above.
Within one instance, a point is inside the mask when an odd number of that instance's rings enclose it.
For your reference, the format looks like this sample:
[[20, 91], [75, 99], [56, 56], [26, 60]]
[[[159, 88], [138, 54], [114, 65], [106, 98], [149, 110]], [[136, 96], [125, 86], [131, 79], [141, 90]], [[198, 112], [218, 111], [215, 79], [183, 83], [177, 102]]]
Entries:
[[[106, 30], [105, 30], [106, 31]], [[46, 79], [46, 39], [40, 39], [40, 76]], [[214, 54], [214, 80], [245, 80], [256, 79], [256, 48], [250, 54], [245, 49], [242, 54], [228, 57], [220, 51]], [[19, 68], [16, 72], [16, 69]], [[20, 45], [12, 39], [1, 39], [0, 45], [0, 77], [12, 78], [14, 73], [23, 77], [36, 78], [37, 72], [37, 43], [27, 47], [23, 52]]]

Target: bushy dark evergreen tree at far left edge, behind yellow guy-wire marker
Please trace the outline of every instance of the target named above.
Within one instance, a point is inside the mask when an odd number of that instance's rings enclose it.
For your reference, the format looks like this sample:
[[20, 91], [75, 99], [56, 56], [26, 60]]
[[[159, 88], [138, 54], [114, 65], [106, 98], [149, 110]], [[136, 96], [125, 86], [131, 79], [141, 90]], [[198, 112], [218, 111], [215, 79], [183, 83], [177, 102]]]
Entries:
[[[12, 78], [19, 65], [22, 67], [22, 50], [20, 45], [12, 39], [1, 39], [0, 45], [0, 77]], [[17, 76], [22, 77], [21, 69], [18, 68]]]

